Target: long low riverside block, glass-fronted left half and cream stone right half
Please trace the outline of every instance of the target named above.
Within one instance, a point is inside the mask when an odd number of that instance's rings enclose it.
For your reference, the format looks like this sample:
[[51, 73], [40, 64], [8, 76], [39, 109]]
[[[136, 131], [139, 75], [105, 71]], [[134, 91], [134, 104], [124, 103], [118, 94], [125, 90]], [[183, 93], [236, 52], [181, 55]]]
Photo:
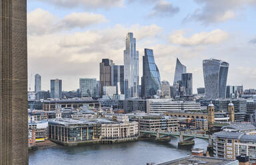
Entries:
[[49, 138], [63, 145], [86, 142], [122, 142], [138, 137], [137, 122], [114, 122], [106, 118], [49, 120]]

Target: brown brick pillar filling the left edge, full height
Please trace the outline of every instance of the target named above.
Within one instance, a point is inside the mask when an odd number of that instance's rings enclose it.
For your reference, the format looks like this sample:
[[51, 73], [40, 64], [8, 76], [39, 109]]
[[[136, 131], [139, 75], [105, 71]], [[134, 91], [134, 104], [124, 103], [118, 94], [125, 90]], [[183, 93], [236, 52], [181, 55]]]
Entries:
[[0, 1], [0, 164], [28, 164], [27, 1]]

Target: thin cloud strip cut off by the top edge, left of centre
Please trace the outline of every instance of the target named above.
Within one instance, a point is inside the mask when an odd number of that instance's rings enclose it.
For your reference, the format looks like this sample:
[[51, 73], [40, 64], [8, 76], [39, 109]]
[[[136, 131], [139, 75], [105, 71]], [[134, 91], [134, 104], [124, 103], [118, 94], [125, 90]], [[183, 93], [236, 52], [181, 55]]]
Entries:
[[57, 7], [83, 7], [86, 9], [98, 9], [110, 7], [120, 7], [123, 5], [123, 0], [31, 0], [31, 1], [42, 1], [55, 5]]

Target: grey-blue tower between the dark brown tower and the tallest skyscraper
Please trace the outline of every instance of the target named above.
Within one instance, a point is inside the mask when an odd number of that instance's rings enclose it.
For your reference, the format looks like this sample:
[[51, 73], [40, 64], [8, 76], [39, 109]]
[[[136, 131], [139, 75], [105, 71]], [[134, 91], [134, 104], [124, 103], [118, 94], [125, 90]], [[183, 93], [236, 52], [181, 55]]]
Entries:
[[117, 91], [120, 92], [119, 94], [125, 94], [124, 66], [114, 65], [112, 71], [113, 71], [112, 86], [117, 86]]

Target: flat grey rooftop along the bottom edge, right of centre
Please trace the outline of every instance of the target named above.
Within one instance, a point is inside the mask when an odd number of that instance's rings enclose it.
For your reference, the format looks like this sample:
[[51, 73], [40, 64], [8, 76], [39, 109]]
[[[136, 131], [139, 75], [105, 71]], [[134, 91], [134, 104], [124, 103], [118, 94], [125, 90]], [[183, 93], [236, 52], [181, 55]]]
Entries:
[[212, 158], [212, 157], [205, 157], [205, 156], [185, 156], [183, 158], [178, 158], [176, 160], [171, 160], [169, 162], [163, 162], [155, 165], [189, 165], [189, 164], [207, 164], [207, 165], [225, 165], [237, 162], [238, 160], [227, 160], [223, 158]]

